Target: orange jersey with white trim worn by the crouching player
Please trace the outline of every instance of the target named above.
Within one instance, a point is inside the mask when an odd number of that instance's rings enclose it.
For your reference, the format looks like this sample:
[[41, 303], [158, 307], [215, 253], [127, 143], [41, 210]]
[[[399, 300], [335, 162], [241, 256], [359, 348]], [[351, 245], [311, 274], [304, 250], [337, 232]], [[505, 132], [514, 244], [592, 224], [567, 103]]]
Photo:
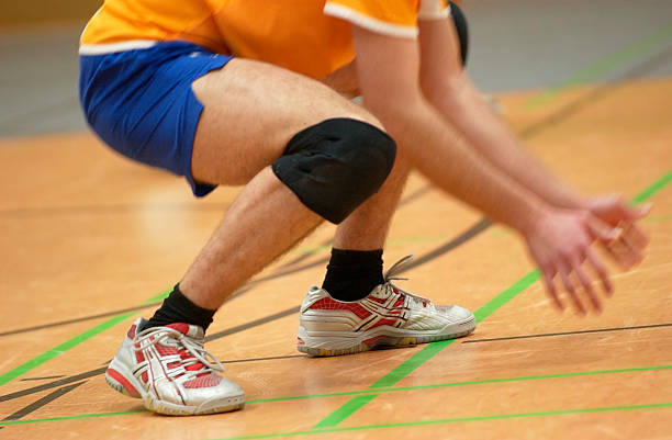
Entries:
[[418, 19], [448, 15], [445, 0], [104, 0], [80, 54], [182, 40], [324, 78], [354, 59], [350, 24], [414, 38]]

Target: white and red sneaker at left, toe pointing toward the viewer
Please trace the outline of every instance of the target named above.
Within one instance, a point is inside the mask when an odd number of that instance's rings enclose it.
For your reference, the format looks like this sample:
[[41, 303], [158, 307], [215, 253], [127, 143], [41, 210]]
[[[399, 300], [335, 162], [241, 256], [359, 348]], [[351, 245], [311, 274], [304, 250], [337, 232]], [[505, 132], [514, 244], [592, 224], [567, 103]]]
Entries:
[[142, 398], [145, 408], [167, 415], [188, 416], [242, 408], [243, 390], [214, 371], [222, 363], [203, 348], [203, 329], [170, 324], [136, 332], [132, 326], [105, 372], [114, 390]]

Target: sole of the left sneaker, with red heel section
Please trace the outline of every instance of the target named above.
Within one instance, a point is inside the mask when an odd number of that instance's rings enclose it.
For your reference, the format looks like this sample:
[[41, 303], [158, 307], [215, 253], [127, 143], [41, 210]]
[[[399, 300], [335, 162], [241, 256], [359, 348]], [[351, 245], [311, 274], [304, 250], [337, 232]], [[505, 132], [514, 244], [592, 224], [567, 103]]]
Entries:
[[245, 406], [245, 395], [235, 395], [216, 400], [204, 402], [198, 406], [178, 405], [154, 398], [145, 392], [137, 379], [128, 374], [128, 369], [116, 359], [110, 362], [105, 371], [105, 382], [112, 390], [128, 397], [142, 398], [145, 408], [166, 416], [198, 416], [204, 414], [228, 413]]

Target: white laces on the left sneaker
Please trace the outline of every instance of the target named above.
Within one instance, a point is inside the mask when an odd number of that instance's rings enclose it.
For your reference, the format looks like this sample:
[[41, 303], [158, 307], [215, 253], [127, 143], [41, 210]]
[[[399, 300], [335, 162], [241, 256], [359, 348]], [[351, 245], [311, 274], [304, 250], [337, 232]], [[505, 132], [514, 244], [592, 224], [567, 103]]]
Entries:
[[[138, 332], [136, 335], [135, 343], [139, 345], [139, 347], [136, 347], [135, 351], [141, 351], [157, 342], [164, 342], [164, 345], [168, 347], [176, 347], [178, 351], [181, 347], [183, 347], [189, 353], [191, 353], [193, 358], [181, 360], [184, 368], [200, 362], [205, 369], [224, 371], [224, 365], [222, 365], [222, 362], [220, 362], [214, 354], [203, 348], [202, 340], [195, 340], [194, 338], [183, 335], [182, 332], [170, 327], [153, 327]], [[203, 369], [194, 371], [186, 370], [186, 374], [189, 376], [195, 376], [197, 374], [201, 373], [203, 373]]]

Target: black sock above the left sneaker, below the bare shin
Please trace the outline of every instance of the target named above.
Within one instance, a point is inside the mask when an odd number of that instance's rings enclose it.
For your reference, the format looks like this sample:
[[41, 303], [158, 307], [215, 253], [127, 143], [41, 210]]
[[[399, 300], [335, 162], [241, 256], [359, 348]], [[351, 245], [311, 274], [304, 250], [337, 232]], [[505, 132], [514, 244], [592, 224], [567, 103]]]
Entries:
[[180, 292], [180, 285], [176, 284], [170, 295], [164, 300], [161, 307], [145, 323], [143, 330], [173, 323], [187, 323], [203, 327], [203, 331], [205, 331], [212, 323], [215, 312], [193, 304]]

